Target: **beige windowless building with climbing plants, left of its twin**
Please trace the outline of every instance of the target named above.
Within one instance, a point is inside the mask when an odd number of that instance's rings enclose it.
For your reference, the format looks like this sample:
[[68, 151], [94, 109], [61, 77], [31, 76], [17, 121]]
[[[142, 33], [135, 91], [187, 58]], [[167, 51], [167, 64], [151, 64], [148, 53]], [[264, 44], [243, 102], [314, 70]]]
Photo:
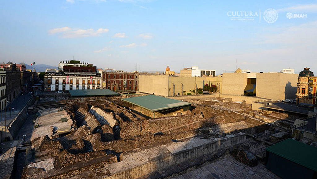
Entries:
[[[182, 96], [196, 94], [204, 85], [214, 85], [222, 90], [222, 77], [176, 77], [167, 75], [139, 75], [139, 92], [160, 96]], [[195, 91], [195, 92], [193, 92]]]

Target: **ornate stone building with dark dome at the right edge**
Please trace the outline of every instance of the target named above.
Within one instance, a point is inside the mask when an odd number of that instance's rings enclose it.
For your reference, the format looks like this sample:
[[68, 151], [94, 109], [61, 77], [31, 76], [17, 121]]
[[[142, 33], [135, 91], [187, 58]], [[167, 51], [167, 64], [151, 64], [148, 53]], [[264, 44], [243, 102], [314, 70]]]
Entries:
[[298, 105], [316, 105], [316, 83], [317, 77], [309, 68], [304, 68], [298, 75], [297, 82], [297, 103]]

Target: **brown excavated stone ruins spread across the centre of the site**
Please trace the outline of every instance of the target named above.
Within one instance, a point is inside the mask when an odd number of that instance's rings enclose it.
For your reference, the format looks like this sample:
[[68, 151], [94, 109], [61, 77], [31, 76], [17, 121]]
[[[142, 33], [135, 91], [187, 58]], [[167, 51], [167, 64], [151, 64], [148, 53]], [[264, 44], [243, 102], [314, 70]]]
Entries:
[[245, 152], [262, 155], [259, 148], [289, 137], [290, 120], [298, 118], [257, 113], [228, 99], [188, 102], [191, 110], [157, 113], [154, 119], [124, 106], [120, 97], [68, 104], [72, 130], [38, 137], [29, 151], [31, 163], [53, 159], [54, 167], [25, 167], [23, 177], [164, 178], [230, 153], [244, 161]]

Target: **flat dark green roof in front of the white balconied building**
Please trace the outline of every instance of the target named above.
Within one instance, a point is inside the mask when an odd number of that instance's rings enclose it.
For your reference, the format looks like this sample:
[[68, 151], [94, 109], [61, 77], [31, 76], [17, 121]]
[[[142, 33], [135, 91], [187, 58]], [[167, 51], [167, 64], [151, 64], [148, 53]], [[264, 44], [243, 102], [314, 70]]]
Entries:
[[113, 96], [119, 95], [110, 89], [72, 89], [68, 90], [71, 96]]

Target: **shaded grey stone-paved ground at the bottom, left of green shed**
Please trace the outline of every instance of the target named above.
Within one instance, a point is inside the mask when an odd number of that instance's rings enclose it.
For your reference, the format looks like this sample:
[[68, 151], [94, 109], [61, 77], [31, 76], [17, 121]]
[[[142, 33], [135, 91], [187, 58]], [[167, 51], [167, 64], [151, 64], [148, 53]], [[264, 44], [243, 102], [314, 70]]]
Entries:
[[195, 170], [176, 176], [174, 179], [203, 179], [203, 178], [279, 178], [268, 171], [262, 163], [255, 167], [249, 167], [237, 162], [231, 155], [215, 163], [208, 164]]

